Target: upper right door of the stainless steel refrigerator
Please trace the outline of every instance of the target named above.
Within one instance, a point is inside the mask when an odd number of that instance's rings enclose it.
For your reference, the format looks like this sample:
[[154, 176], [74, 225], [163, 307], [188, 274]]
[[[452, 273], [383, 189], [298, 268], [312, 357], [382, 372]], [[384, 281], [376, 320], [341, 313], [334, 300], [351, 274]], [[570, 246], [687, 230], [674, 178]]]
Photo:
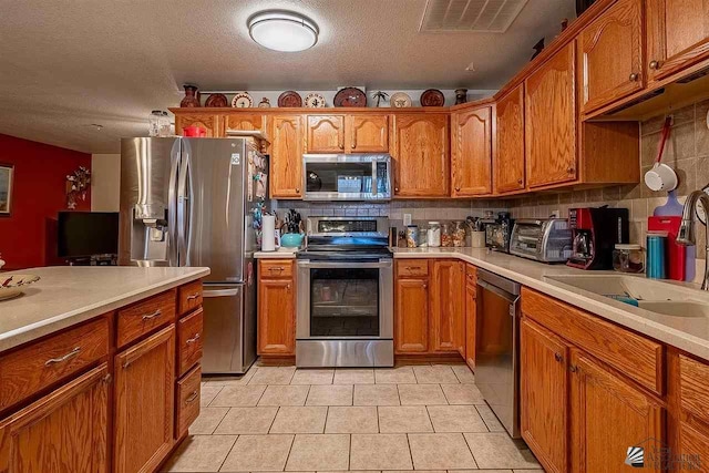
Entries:
[[242, 282], [247, 185], [244, 140], [184, 138], [177, 184], [181, 266], [208, 266], [205, 282]]

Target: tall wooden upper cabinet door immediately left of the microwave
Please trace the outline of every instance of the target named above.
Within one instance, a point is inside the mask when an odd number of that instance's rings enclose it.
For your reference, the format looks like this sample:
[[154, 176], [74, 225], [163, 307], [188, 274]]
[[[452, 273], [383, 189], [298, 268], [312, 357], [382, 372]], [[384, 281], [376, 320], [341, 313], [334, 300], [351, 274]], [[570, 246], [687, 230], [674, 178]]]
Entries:
[[302, 115], [275, 115], [270, 132], [270, 196], [302, 196]]

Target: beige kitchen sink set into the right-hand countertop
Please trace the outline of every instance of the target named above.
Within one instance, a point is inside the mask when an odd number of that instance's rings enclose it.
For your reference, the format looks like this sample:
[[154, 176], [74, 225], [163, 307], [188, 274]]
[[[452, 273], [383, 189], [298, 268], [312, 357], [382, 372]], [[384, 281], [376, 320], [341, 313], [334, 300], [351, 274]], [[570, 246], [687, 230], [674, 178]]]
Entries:
[[551, 282], [572, 286], [640, 309], [670, 317], [709, 318], [709, 295], [701, 290], [640, 276], [605, 274], [546, 276]]

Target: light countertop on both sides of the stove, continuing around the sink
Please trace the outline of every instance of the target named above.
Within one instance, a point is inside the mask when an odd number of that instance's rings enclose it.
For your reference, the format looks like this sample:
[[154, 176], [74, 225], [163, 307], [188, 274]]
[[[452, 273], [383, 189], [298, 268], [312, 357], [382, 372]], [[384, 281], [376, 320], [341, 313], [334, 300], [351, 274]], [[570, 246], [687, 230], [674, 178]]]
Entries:
[[[486, 248], [393, 248], [393, 253], [394, 258], [456, 258], [467, 261], [709, 361], [709, 318], [664, 316], [548, 279], [549, 276], [597, 276], [616, 274], [614, 271], [584, 271], [565, 265], [545, 265]], [[294, 253], [275, 251], [259, 253], [256, 257], [296, 256]], [[709, 304], [709, 294], [700, 291], [698, 285], [662, 282], [696, 289], [696, 299]]]

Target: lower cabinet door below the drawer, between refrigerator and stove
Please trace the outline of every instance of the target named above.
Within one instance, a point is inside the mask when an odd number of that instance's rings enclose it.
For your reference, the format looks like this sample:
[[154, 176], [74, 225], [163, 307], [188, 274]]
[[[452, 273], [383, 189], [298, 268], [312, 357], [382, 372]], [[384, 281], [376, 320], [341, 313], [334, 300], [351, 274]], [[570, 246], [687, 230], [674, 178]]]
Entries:
[[290, 279], [258, 280], [258, 353], [296, 353], [296, 304]]

